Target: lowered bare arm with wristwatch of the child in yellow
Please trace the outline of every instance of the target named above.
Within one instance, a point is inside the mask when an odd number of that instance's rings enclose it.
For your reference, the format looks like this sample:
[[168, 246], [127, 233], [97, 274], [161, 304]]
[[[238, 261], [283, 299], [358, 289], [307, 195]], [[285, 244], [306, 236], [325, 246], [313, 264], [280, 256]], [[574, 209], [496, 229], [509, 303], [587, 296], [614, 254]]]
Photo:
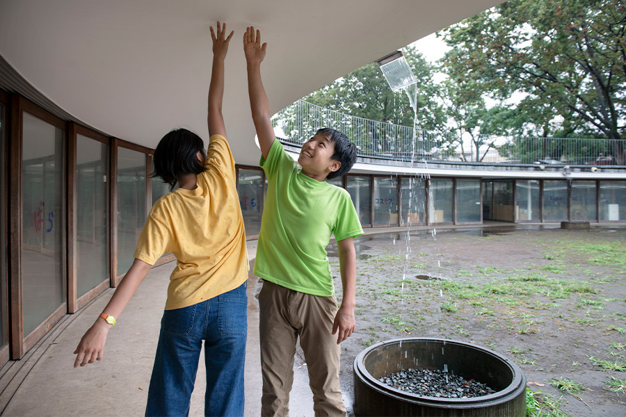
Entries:
[[[113, 297], [109, 300], [109, 304], [106, 304], [102, 311], [106, 315], [118, 318], [122, 310], [127, 306], [131, 300], [135, 291], [141, 284], [141, 281], [147, 275], [151, 265], [135, 259], [133, 265], [120, 282], [118, 288], [115, 289]], [[106, 343], [106, 334], [109, 333], [111, 325], [104, 321], [103, 318], [96, 319], [93, 326], [91, 326], [87, 332], [81, 338], [79, 345], [74, 354], [76, 354], [76, 361], [74, 361], [74, 368], [77, 366], [85, 366], [87, 363], [94, 363], [102, 359], [102, 353], [104, 352], [104, 343]]]

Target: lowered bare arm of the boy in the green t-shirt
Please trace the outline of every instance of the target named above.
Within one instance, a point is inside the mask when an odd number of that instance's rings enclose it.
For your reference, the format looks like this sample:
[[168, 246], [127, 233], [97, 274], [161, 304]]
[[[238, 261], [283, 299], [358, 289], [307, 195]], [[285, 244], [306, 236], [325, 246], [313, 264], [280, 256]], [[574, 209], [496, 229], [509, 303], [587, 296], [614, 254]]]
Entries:
[[356, 306], [356, 252], [354, 238], [346, 238], [337, 242], [339, 247], [339, 270], [342, 274], [344, 294], [342, 306], [339, 307], [335, 322], [332, 324], [332, 334], [337, 334], [337, 345], [352, 336], [356, 329], [354, 309]]

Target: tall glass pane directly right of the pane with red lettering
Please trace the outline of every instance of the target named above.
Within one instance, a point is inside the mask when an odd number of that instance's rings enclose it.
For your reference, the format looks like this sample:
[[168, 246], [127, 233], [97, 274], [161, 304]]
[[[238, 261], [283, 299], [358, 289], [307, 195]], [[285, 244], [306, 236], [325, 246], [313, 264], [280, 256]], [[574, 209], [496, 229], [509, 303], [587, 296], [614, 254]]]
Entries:
[[77, 135], [77, 297], [109, 279], [109, 158], [105, 143]]

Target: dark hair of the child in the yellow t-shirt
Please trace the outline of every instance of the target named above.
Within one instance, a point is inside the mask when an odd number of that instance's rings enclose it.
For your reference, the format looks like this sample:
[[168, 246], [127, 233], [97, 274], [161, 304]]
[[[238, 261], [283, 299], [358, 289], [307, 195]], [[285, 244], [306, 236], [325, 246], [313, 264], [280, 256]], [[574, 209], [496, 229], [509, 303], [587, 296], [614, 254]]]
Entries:
[[198, 175], [204, 171], [204, 166], [195, 158], [198, 151], [206, 156], [200, 136], [187, 129], [170, 131], [154, 149], [151, 177], [160, 177], [170, 184], [170, 191], [173, 190], [183, 175]]

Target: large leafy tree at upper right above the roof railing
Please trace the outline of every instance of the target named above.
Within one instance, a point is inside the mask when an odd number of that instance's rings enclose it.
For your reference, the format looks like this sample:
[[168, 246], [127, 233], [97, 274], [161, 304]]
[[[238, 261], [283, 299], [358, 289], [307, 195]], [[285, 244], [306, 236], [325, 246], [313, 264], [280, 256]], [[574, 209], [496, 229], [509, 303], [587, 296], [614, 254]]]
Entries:
[[515, 129], [615, 139], [611, 153], [625, 163], [623, 1], [510, 0], [441, 33], [454, 48], [447, 73], [500, 99], [525, 95], [517, 110], [527, 122]]

